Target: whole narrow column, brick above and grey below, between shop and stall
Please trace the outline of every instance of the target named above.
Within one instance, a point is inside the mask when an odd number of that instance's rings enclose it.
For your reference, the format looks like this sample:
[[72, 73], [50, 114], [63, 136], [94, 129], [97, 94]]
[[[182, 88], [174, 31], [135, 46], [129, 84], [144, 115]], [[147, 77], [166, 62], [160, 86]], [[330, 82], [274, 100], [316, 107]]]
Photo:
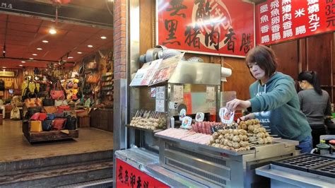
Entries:
[[127, 123], [127, 2], [114, 0], [114, 151], [126, 147]]

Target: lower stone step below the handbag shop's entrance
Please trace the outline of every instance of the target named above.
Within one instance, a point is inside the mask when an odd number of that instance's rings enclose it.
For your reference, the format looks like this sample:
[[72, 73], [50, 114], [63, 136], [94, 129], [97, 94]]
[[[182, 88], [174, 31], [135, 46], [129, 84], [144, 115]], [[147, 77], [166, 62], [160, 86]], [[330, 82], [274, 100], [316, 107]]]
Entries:
[[0, 187], [59, 187], [112, 178], [112, 161], [0, 176]]

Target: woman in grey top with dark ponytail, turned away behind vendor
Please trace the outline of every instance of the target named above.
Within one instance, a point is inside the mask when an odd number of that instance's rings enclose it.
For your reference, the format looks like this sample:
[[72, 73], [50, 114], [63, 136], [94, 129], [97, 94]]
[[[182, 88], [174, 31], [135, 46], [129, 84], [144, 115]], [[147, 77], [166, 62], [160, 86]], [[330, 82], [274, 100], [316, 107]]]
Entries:
[[327, 134], [324, 117], [331, 115], [329, 94], [320, 88], [319, 76], [315, 71], [303, 71], [298, 76], [300, 109], [312, 128], [313, 147], [320, 142], [320, 135]]

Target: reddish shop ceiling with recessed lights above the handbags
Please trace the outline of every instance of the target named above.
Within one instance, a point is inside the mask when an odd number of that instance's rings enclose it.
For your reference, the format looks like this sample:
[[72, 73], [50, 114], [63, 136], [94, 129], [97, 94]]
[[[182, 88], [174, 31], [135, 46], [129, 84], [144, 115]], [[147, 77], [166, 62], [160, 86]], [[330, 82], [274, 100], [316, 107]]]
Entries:
[[[49, 0], [2, 2], [0, 46], [6, 53], [0, 54], [0, 69], [45, 67], [59, 61], [71, 66], [99, 50], [111, 50], [112, 5], [110, 0], [72, 0], [61, 6]], [[52, 27], [55, 35], [49, 34]]]

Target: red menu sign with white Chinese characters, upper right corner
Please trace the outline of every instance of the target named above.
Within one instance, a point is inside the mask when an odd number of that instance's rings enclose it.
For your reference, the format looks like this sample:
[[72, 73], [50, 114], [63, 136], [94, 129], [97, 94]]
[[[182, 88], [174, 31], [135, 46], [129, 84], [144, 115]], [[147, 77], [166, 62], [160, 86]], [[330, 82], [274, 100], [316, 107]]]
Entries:
[[271, 0], [256, 6], [257, 44], [335, 30], [335, 0]]

